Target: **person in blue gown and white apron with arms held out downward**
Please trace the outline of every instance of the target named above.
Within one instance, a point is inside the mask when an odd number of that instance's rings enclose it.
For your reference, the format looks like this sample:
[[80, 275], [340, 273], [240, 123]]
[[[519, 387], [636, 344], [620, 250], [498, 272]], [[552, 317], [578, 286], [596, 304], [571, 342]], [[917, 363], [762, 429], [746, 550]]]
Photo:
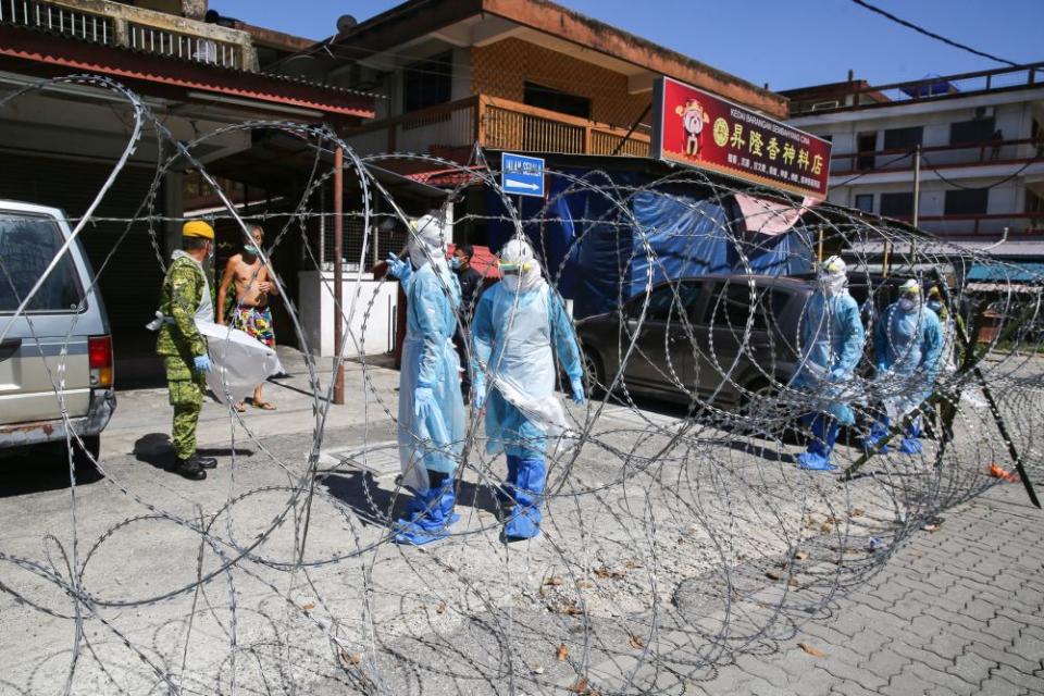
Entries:
[[557, 442], [568, 428], [555, 394], [555, 356], [576, 403], [585, 401], [584, 368], [564, 304], [540, 275], [530, 244], [508, 241], [499, 270], [501, 281], [482, 296], [471, 323], [472, 403], [485, 406], [487, 452], [507, 455], [500, 497], [513, 505], [505, 539], [527, 539], [540, 532], [548, 439]]

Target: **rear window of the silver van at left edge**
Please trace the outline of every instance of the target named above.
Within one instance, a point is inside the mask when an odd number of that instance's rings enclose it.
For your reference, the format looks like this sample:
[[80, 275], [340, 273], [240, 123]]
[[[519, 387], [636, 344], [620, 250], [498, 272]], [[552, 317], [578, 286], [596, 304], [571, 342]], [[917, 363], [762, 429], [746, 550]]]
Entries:
[[[0, 313], [12, 314], [18, 309], [63, 243], [61, 229], [49, 217], [0, 213]], [[40, 285], [26, 311], [75, 311], [83, 299], [70, 250]]]

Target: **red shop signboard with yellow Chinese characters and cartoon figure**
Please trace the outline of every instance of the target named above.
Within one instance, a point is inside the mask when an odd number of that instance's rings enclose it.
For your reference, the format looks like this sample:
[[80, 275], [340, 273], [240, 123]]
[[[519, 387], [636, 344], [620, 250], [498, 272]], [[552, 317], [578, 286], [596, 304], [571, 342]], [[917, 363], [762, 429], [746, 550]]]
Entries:
[[652, 107], [652, 157], [826, 198], [826, 140], [670, 77], [657, 79]]

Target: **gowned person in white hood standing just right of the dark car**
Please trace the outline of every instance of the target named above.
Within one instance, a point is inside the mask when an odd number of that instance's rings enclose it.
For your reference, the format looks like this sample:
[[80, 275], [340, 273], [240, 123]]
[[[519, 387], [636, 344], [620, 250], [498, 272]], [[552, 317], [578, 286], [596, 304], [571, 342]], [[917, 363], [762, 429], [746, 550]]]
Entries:
[[830, 456], [840, 426], [856, 422], [845, 390], [862, 356], [866, 334], [859, 306], [848, 294], [847, 270], [841, 257], [826, 259], [801, 315], [801, 361], [791, 385], [821, 402], [801, 418], [812, 438], [808, 450], [798, 455], [797, 465], [810, 471], [836, 469]]

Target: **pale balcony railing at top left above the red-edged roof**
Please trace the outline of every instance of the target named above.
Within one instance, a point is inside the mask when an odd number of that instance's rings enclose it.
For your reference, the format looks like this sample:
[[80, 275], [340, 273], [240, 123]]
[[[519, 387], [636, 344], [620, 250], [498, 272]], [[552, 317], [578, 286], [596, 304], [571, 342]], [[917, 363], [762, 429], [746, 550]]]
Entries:
[[222, 67], [257, 70], [249, 35], [108, 0], [0, 0], [0, 23]]

